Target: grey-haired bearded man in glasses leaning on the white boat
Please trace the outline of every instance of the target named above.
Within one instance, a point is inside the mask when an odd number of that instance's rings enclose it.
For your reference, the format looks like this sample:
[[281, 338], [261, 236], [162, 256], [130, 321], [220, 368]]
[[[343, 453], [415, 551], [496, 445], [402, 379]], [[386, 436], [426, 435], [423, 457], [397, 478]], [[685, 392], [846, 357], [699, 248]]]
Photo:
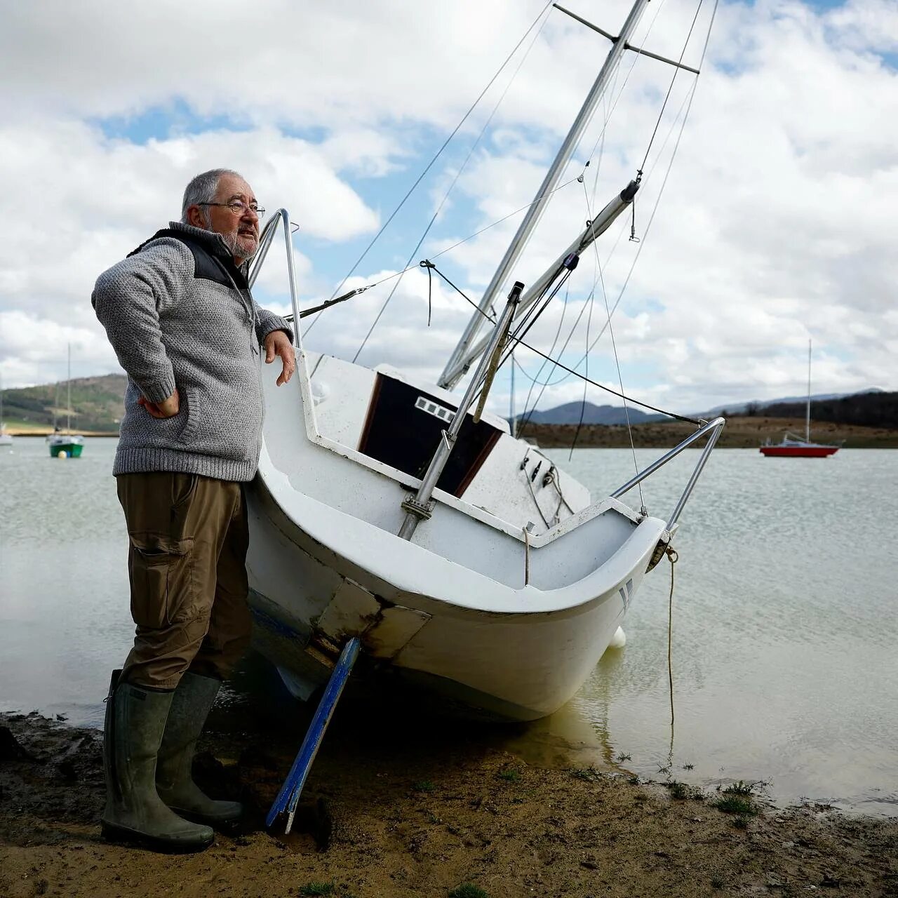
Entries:
[[112, 676], [103, 835], [202, 850], [242, 806], [213, 801], [191, 761], [219, 685], [250, 638], [242, 486], [259, 462], [260, 347], [295, 369], [283, 318], [247, 265], [264, 215], [225, 169], [184, 191], [180, 222], [97, 280], [92, 303], [128, 373], [113, 473], [128, 524], [134, 647]]

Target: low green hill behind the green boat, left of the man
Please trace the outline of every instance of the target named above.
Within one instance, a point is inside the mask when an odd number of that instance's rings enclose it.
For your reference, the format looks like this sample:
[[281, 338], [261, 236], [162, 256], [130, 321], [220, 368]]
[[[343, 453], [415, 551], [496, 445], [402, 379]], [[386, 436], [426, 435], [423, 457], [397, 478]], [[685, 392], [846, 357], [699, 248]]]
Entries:
[[43, 383], [37, 387], [4, 390], [3, 405], [6, 426], [11, 430], [47, 430], [54, 419], [66, 427], [66, 417], [77, 430], [117, 433], [125, 414], [124, 374], [72, 379], [72, 407], [66, 408], [66, 382]]

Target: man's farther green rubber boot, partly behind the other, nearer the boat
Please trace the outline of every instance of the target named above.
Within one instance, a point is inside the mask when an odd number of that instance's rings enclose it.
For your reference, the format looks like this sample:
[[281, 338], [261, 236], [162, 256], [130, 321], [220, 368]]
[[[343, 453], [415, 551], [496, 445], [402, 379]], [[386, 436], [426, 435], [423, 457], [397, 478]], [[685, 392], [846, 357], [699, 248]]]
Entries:
[[216, 801], [193, 781], [191, 768], [199, 734], [206, 725], [221, 682], [184, 674], [174, 691], [156, 765], [156, 790], [163, 802], [188, 820], [232, 832], [243, 814], [236, 801]]

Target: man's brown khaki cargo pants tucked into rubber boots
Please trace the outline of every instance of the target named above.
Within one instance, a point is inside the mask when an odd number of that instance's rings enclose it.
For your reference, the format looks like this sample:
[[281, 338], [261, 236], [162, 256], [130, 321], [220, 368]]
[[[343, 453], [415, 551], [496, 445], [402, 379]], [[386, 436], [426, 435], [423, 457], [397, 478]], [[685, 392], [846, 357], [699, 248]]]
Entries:
[[225, 679], [250, 642], [242, 484], [165, 471], [116, 480], [136, 623], [121, 682], [169, 690], [188, 670]]

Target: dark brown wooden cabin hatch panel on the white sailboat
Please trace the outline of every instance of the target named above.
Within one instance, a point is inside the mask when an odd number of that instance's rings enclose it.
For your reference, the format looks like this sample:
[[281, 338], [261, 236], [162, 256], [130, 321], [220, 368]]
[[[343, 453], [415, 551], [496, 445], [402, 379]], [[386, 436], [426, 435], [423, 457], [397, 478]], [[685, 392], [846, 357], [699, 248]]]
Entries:
[[[358, 451], [412, 477], [423, 477], [456, 407], [378, 372]], [[436, 486], [462, 497], [501, 435], [498, 427], [467, 415]]]

